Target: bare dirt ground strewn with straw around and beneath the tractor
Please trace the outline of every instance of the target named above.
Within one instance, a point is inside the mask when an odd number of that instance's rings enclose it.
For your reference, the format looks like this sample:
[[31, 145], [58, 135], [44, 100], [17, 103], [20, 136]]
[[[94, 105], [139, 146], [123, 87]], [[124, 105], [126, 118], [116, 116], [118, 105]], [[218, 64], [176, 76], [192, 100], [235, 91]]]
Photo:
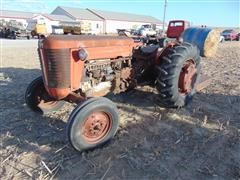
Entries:
[[109, 96], [121, 125], [101, 148], [68, 143], [74, 106], [39, 116], [24, 102], [40, 76], [36, 40], [1, 40], [0, 179], [240, 179], [240, 43], [202, 59], [212, 83], [182, 109], [156, 105], [150, 87]]

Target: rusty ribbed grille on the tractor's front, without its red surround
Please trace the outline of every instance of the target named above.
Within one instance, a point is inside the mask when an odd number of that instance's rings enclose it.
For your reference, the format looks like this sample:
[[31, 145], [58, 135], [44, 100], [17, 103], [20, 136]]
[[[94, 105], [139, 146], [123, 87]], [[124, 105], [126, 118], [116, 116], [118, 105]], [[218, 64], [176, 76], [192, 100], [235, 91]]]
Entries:
[[50, 88], [70, 87], [70, 53], [69, 49], [44, 50], [45, 72]]

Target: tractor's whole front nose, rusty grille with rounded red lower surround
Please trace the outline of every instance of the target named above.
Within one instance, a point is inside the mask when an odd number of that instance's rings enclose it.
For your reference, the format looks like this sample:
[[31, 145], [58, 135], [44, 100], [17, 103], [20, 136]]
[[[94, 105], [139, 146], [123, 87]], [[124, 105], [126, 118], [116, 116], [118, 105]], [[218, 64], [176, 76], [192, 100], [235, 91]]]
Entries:
[[44, 86], [57, 100], [71, 92], [71, 57], [69, 49], [38, 49]]

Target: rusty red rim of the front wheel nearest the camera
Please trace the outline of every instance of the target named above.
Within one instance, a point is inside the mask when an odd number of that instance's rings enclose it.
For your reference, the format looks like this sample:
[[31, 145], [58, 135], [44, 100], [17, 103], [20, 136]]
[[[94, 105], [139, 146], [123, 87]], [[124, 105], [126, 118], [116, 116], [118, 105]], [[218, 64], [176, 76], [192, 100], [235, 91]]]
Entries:
[[112, 119], [103, 111], [90, 114], [81, 129], [83, 138], [90, 144], [100, 142], [109, 133], [112, 127]]

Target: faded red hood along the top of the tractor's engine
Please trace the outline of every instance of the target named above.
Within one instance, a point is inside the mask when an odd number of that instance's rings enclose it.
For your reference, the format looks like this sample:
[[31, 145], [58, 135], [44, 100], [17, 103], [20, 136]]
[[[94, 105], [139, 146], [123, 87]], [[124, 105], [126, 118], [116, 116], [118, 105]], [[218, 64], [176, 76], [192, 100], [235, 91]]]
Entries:
[[52, 35], [44, 40], [43, 49], [75, 49], [80, 48], [88, 53], [88, 60], [118, 58], [132, 55], [138, 44], [133, 39], [119, 36], [64, 36]]

